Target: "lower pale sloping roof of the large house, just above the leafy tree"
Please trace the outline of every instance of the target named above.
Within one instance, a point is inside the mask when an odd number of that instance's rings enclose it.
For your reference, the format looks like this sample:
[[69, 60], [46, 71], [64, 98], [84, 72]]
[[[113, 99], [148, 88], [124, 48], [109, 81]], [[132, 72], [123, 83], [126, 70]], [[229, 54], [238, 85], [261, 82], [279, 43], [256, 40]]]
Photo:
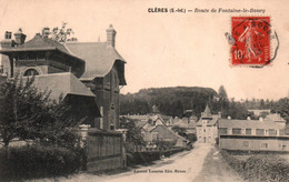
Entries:
[[50, 98], [56, 100], [60, 95], [66, 98], [68, 94], [96, 97], [71, 72], [36, 75], [34, 85], [42, 91], [51, 90]]

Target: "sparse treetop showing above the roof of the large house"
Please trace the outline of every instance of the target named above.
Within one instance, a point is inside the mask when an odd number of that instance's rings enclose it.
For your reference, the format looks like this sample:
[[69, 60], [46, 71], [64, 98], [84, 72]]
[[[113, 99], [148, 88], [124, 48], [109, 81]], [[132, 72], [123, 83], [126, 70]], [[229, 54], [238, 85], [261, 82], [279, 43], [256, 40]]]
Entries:
[[[77, 41], [77, 38], [70, 38], [71, 34], [74, 32], [72, 31], [71, 28], [67, 29], [67, 22], [62, 21], [62, 27], [61, 28], [53, 28], [52, 31], [50, 31], [50, 28], [43, 28], [42, 29], [42, 37], [56, 40], [58, 42], [66, 42], [66, 41]], [[70, 39], [69, 39], [70, 38]]]

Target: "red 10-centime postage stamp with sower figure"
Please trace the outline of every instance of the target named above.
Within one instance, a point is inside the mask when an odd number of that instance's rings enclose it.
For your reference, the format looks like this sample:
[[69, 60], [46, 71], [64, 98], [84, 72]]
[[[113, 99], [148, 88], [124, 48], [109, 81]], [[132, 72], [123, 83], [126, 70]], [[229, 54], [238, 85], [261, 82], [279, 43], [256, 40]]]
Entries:
[[232, 17], [231, 24], [231, 64], [270, 64], [270, 17]]

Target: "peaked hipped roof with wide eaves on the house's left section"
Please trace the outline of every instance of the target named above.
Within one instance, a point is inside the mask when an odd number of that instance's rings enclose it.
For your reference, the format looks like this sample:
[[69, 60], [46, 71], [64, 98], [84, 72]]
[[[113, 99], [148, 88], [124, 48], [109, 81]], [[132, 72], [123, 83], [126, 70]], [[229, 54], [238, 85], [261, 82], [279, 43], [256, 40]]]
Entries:
[[26, 51], [48, 51], [48, 50], [56, 50], [60, 51], [69, 57], [72, 57], [81, 62], [84, 62], [84, 60], [80, 59], [79, 57], [72, 54], [64, 44], [59, 43], [58, 41], [54, 41], [52, 39], [42, 38], [40, 34], [36, 34], [33, 39], [27, 41], [23, 44], [20, 44], [18, 47], [9, 48], [9, 49], [2, 49], [0, 50], [0, 53], [8, 54], [9, 52], [26, 52]]

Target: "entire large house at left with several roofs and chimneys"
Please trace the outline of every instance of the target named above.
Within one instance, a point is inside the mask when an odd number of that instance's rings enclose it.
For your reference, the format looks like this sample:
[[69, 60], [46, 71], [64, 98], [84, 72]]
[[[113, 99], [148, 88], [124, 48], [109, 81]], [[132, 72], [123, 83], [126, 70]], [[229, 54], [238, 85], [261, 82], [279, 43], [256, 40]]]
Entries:
[[63, 91], [78, 97], [74, 104], [90, 97], [96, 107], [86, 122], [98, 129], [118, 129], [126, 61], [114, 48], [116, 33], [110, 26], [106, 42], [60, 43], [39, 33], [26, 42], [21, 29], [14, 40], [11, 32], [6, 32], [0, 42], [1, 72], [11, 78], [36, 75], [39, 88], [52, 90], [52, 94]]

